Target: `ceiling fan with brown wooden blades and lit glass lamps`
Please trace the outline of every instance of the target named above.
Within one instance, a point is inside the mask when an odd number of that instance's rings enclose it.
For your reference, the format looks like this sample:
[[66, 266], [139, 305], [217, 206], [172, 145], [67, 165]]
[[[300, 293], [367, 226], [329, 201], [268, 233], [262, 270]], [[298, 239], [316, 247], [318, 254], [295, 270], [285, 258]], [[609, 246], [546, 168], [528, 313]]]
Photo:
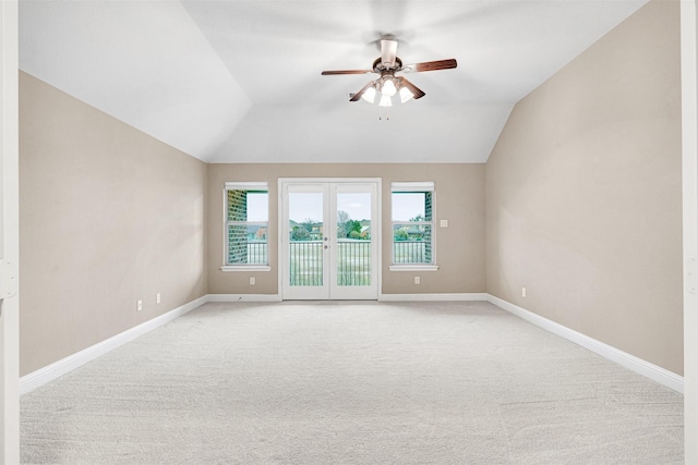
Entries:
[[424, 97], [424, 91], [410, 83], [404, 76], [397, 76], [396, 73], [418, 73], [423, 71], [449, 70], [456, 68], [458, 63], [456, 59], [426, 61], [416, 64], [402, 64], [402, 60], [397, 56], [397, 39], [392, 36], [384, 36], [381, 39], [381, 57], [374, 62], [372, 70], [339, 70], [323, 71], [323, 76], [337, 74], [366, 74], [376, 73], [381, 76], [371, 81], [363, 86], [361, 90], [353, 94], [349, 101], [359, 101], [364, 99], [370, 103], [376, 101], [380, 97], [378, 105], [382, 107], [393, 106], [393, 97], [399, 95], [400, 102], [405, 103], [410, 99]]

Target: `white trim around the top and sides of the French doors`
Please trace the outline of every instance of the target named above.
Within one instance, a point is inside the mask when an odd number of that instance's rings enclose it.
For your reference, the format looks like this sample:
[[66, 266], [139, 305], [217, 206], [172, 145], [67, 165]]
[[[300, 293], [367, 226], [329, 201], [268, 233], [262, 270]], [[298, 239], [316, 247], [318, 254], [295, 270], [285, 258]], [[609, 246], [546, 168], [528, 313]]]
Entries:
[[376, 246], [376, 269], [375, 280], [377, 286], [377, 293], [375, 301], [378, 301], [383, 291], [383, 179], [382, 178], [279, 178], [277, 182], [277, 264], [278, 264], [278, 290], [279, 297], [284, 301], [284, 270], [286, 261], [284, 259], [284, 185], [287, 183], [357, 183], [376, 184], [376, 199], [375, 199], [375, 229], [372, 225], [372, 231], [377, 231], [374, 236]]

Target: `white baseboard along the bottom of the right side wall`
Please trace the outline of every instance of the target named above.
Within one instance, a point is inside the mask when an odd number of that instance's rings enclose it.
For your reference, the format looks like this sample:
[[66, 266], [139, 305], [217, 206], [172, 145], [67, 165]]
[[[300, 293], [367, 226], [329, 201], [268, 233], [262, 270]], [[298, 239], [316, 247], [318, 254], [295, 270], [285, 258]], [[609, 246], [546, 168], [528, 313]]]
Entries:
[[615, 362], [616, 364], [636, 371], [670, 389], [673, 389], [676, 392], [681, 392], [682, 394], [684, 393], [684, 377], [679, 375], [676, 375], [657, 365], [650, 364], [649, 362], [615, 348], [601, 341], [597, 341], [593, 338], [556, 323], [555, 321], [549, 320], [547, 318], [541, 317], [540, 315], [535, 315], [525, 308], [503, 301], [500, 297], [495, 297], [491, 294], [486, 294], [486, 299], [492, 304], [516, 315], [519, 318], [525, 319], [530, 323], [535, 325], [537, 327], [540, 327], [552, 332], [553, 334], [559, 335], [561, 338], [571, 341], [577, 345], [588, 348], [589, 351], [594, 352], [604, 358]]

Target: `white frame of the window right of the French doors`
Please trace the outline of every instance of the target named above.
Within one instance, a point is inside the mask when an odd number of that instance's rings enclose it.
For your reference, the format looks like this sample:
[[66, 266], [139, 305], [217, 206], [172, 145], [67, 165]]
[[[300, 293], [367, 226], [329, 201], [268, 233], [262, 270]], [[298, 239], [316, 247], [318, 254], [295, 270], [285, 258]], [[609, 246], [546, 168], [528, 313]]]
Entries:
[[[429, 221], [396, 221], [393, 217], [394, 195], [395, 194], [409, 194], [409, 193], [431, 193], [432, 207], [431, 207], [431, 220]], [[393, 182], [390, 183], [390, 271], [436, 271], [438, 265], [436, 265], [436, 189], [433, 181], [421, 182]], [[422, 264], [396, 264], [395, 262], [395, 225], [397, 224], [411, 224], [411, 225], [429, 225], [431, 227], [431, 262]]]

